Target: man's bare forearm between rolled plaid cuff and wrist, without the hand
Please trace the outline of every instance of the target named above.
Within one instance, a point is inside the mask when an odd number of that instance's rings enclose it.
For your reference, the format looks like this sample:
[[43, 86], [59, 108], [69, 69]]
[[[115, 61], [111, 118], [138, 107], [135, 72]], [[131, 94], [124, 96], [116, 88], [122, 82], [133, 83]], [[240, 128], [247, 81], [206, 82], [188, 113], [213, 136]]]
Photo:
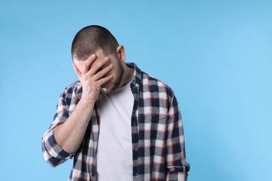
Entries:
[[76, 152], [80, 147], [94, 104], [93, 101], [80, 100], [66, 122], [54, 129], [56, 143], [66, 152]]

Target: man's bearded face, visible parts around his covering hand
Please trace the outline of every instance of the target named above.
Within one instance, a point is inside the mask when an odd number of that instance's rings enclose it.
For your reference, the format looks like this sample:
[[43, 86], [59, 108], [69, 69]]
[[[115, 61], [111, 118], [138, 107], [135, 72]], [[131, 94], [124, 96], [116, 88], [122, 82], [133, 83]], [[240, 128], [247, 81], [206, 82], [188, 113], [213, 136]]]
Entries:
[[[105, 55], [103, 54], [103, 51], [99, 49], [96, 52], [96, 60], [94, 61], [94, 63], [96, 63], [96, 61], [101, 61], [103, 58], [105, 58]], [[103, 67], [100, 68], [100, 70], [103, 70], [103, 68], [106, 68], [107, 65], [112, 64], [114, 68], [107, 72], [107, 74], [105, 74], [104, 77], [107, 77], [108, 75], [112, 74], [113, 78], [101, 86], [101, 91], [103, 93], [111, 93], [112, 91], [114, 91], [116, 88], [120, 86], [123, 78], [123, 65], [121, 63], [121, 59], [115, 54], [109, 55], [107, 56], [107, 58], [109, 58], [109, 61], [105, 65], [103, 65]], [[79, 68], [80, 71], [84, 67], [84, 61], [74, 60], [74, 63], [75, 65], [77, 65], [77, 68]]]

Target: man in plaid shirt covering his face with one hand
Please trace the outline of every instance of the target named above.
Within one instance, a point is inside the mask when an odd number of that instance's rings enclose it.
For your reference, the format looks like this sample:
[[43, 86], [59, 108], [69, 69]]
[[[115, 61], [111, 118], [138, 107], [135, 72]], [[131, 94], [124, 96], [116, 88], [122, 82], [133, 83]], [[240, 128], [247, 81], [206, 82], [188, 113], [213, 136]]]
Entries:
[[101, 26], [72, 44], [79, 81], [59, 97], [43, 135], [52, 166], [74, 157], [68, 180], [187, 180], [183, 125], [174, 92], [124, 63], [125, 49]]

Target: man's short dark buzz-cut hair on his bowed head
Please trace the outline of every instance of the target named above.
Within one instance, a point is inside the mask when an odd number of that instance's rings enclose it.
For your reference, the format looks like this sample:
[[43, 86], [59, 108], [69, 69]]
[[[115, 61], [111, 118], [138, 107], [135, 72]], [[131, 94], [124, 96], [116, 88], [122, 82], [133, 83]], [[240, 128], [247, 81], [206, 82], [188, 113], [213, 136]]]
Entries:
[[103, 50], [105, 56], [116, 53], [119, 46], [116, 38], [102, 26], [86, 26], [77, 32], [72, 42], [72, 58], [84, 61], [98, 49]]

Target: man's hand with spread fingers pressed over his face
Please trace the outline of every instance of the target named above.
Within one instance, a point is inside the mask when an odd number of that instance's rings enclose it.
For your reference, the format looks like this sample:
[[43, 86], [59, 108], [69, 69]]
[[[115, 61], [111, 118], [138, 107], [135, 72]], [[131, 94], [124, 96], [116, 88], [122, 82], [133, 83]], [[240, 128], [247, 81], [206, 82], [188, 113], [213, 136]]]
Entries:
[[[86, 102], [98, 100], [101, 86], [113, 77], [112, 74], [105, 77], [105, 74], [113, 68], [112, 64], [107, 65], [108, 62], [109, 58], [105, 57], [98, 60], [96, 55], [92, 54], [86, 61], [77, 61], [80, 68], [75, 65], [75, 62], [73, 63], [75, 73], [82, 84], [82, 100]], [[105, 67], [105, 65], [107, 66]]]

